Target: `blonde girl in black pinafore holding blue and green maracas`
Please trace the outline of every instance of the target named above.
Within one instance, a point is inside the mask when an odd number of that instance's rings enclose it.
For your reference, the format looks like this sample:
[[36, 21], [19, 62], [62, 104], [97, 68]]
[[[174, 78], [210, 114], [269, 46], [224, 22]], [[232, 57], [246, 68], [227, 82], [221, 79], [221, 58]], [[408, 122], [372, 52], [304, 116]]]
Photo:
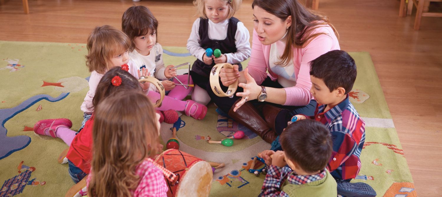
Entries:
[[[217, 63], [238, 64], [250, 57], [249, 32], [242, 22], [233, 17], [242, 0], [194, 0], [197, 13], [187, 50], [197, 58], [192, 66], [191, 76], [195, 83], [192, 100], [201, 104], [210, 102], [207, 91], [212, 91], [209, 73]], [[206, 56], [206, 49], [220, 49], [220, 57]]]

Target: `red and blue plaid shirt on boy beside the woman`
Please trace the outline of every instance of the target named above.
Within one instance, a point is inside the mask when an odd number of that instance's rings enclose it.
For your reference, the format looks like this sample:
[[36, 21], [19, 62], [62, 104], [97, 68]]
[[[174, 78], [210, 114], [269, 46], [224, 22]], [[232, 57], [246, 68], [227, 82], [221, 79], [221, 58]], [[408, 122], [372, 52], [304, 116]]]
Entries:
[[316, 106], [315, 119], [331, 132], [333, 152], [327, 169], [335, 179], [355, 178], [361, 169], [362, 146], [365, 141], [365, 122], [350, 103], [348, 95], [341, 103], [324, 112], [326, 105]]

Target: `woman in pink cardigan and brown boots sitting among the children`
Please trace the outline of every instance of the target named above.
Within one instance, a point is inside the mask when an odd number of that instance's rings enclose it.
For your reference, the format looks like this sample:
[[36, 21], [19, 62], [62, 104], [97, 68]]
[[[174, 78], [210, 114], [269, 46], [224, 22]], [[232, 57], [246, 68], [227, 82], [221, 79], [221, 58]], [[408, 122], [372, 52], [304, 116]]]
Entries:
[[339, 42], [328, 18], [297, 0], [254, 0], [252, 8], [255, 25], [248, 67], [223, 68], [220, 73], [225, 86], [240, 82], [236, 96], [208, 92], [223, 112], [271, 143], [290, 117], [313, 115], [309, 62], [339, 49]]

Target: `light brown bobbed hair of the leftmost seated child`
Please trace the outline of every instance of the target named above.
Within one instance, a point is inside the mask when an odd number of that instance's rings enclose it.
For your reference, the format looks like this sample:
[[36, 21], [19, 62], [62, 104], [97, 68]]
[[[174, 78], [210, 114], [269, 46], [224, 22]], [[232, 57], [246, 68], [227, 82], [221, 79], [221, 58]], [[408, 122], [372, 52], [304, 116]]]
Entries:
[[112, 26], [97, 26], [88, 37], [86, 66], [89, 72], [104, 74], [110, 68], [110, 58], [125, 52], [131, 45], [129, 37]]

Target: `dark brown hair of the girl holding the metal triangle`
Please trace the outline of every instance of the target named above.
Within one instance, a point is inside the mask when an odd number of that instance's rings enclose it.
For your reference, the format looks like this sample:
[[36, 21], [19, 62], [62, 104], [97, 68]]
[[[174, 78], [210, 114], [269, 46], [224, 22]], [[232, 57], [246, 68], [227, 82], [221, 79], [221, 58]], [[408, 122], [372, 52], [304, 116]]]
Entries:
[[[158, 21], [149, 8], [139, 5], [127, 8], [122, 17], [121, 29], [126, 33], [131, 40], [129, 50], [132, 52], [135, 48], [133, 39], [138, 36], [155, 33], [158, 38]], [[156, 39], [158, 42], [158, 39]]]

